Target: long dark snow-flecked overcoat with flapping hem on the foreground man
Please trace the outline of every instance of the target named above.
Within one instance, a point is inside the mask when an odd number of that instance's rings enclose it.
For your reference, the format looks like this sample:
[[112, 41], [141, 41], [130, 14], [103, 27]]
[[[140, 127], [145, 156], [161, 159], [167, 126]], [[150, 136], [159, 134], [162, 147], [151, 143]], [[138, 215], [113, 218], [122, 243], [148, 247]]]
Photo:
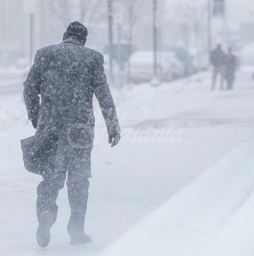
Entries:
[[75, 168], [91, 177], [94, 94], [108, 134], [119, 133], [103, 56], [73, 38], [38, 50], [24, 82], [28, 118], [38, 119], [35, 136], [21, 141], [28, 171], [42, 174]]

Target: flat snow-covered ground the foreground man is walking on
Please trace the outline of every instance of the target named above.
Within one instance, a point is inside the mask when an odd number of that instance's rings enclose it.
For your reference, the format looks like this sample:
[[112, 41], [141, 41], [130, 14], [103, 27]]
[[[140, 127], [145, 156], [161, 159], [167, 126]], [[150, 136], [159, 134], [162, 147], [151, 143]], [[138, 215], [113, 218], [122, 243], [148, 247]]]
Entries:
[[234, 91], [211, 92], [210, 74], [201, 73], [114, 94], [123, 135], [115, 148], [107, 144], [96, 114], [86, 218], [93, 243], [69, 244], [64, 188], [52, 240], [44, 249], [35, 241], [40, 177], [25, 171], [19, 142], [34, 131], [21, 95], [0, 96], [0, 255], [97, 255], [254, 132], [254, 81], [248, 71], [239, 72]]

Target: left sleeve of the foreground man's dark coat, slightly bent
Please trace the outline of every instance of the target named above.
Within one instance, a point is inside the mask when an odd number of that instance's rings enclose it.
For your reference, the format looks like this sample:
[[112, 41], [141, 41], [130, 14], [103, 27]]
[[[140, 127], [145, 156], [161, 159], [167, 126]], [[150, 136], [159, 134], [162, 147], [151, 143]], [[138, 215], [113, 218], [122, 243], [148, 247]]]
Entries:
[[38, 52], [34, 58], [34, 64], [31, 67], [24, 85], [24, 101], [27, 109], [28, 119], [37, 119], [40, 108], [40, 58]]

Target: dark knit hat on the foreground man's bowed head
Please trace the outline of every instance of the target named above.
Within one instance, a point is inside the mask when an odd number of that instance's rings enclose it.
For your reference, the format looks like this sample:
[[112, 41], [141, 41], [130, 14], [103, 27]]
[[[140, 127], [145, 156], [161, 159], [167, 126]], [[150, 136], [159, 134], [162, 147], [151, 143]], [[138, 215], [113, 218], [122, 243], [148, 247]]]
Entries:
[[62, 39], [66, 40], [66, 39], [73, 38], [79, 41], [80, 43], [82, 43], [83, 45], [85, 45], [87, 40], [87, 35], [88, 35], [87, 28], [80, 22], [75, 21], [68, 26], [66, 32], [63, 34]]

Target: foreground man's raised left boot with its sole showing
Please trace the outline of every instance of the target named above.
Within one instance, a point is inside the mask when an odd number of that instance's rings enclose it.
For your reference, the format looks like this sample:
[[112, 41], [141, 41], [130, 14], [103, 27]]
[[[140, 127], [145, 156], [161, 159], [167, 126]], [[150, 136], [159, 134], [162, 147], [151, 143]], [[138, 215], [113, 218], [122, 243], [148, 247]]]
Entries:
[[40, 247], [46, 247], [51, 239], [50, 228], [53, 224], [53, 216], [49, 212], [42, 214], [36, 233], [37, 243]]

